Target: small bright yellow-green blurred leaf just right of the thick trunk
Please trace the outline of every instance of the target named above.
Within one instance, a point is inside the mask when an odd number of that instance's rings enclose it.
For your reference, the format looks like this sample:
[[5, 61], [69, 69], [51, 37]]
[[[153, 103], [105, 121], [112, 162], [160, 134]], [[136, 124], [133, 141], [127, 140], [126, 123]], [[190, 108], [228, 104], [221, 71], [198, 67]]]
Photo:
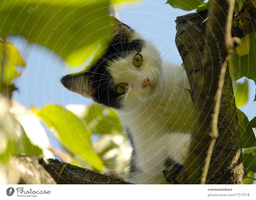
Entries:
[[248, 82], [247, 79], [244, 83], [236, 83], [236, 93], [235, 93], [235, 100], [236, 100], [236, 107], [244, 106], [248, 100]]

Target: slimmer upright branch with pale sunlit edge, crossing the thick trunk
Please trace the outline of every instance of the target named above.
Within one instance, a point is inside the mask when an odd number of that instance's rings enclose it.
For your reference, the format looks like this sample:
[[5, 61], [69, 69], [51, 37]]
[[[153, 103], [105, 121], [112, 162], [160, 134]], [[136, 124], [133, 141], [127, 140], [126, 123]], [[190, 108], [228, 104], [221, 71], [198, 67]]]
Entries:
[[[208, 11], [203, 70], [198, 74], [197, 87], [200, 86], [200, 93], [196, 101], [194, 98], [195, 111], [200, 113], [200, 117], [194, 126], [191, 153], [185, 160], [185, 171], [179, 179], [180, 183], [204, 184], [206, 181], [213, 147], [218, 137], [218, 115], [226, 67], [229, 53], [233, 49], [233, 5], [234, 0], [211, 1]], [[201, 111], [203, 105], [204, 111]]]

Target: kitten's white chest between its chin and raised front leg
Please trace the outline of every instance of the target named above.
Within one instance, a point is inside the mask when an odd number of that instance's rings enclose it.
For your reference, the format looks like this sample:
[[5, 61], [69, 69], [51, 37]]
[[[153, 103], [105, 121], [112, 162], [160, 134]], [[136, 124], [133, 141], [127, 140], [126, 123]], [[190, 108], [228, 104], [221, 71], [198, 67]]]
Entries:
[[168, 91], [150, 103], [141, 104], [130, 112], [121, 112], [120, 119], [135, 135], [165, 134], [186, 131], [194, 119], [193, 103], [187, 91]]

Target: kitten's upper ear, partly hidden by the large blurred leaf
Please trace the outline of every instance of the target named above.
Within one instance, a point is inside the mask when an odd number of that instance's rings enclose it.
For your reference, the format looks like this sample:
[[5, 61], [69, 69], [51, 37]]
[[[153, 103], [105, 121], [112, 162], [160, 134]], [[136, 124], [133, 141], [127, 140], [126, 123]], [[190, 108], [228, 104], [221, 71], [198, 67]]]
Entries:
[[129, 41], [132, 38], [134, 30], [115, 17], [111, 16], [111, 18], [111, 24], [113, 27], [111, 32], [112, 41]]

